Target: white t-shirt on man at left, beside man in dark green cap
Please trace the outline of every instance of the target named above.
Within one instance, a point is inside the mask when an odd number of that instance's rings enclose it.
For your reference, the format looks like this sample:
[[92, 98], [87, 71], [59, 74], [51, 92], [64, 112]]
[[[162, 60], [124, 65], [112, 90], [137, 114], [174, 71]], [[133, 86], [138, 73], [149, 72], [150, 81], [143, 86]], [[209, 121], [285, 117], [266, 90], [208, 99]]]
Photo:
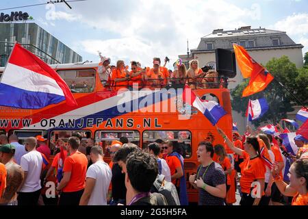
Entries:
[[30, 151], [21, 157], [21, 168], [27, 171], [27, 179], [21, 192], [36, 192], [40, 186], [40, 172], [42, 170], [42, 155], [38, 151]]

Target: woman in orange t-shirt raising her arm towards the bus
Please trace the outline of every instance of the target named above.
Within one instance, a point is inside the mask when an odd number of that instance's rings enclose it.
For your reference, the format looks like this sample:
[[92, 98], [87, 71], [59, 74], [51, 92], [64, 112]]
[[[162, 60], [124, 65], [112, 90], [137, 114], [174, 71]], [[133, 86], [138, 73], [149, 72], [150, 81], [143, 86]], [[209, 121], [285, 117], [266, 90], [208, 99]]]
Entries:
[[[244, 162], [240, 164], [241, 179], [240, 187], [242, 191], [242, 198], [240, 205], [259, 205], [261, 197], [264, 195], [264, 179], [266, 167], [259, 157], [259, 142], [257, 137], [248, 136], [244, 142], [244, 151], [234, 146], [233, 142], [227, 138], [222, 129], [217, 128], [220, 136], [224, 138], [226, 144], [236, 154], [244, 157]], [[257, 183], [255, 183], [257, 181]], [[257, 188], [254, 188], [257, 185]], [[257, 192], [255, 195], [254, 192]]]

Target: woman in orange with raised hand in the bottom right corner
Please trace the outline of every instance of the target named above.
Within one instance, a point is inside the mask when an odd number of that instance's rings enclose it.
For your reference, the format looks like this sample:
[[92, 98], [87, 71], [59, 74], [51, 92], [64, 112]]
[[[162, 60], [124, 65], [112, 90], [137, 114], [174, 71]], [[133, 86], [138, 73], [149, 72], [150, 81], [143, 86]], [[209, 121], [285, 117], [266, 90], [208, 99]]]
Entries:
[[292, 205], [308, 205], [308, 157], [300, 158], [291, 165], [289, 185], [279, 175], [278, 166], [275, 162], [272, 176], [281, 194], [293, 196]]

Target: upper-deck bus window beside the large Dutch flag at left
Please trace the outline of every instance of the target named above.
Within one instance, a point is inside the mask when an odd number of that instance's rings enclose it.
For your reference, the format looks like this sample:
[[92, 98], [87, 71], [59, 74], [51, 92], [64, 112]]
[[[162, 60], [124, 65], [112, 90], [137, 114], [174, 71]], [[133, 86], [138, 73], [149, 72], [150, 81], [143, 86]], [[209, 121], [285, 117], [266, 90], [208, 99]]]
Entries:
[[94, 69], [58, 70], [57, 73], [64, 79], [73, 93], [89, 93], [94, 91]]

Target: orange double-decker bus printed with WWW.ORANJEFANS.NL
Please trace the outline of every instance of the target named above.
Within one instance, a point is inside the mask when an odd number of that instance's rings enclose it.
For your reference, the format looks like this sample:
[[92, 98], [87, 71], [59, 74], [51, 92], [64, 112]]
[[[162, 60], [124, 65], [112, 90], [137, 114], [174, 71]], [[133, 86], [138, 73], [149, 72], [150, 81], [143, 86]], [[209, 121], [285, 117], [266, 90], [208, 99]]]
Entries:
[[[223, 144], [216, 127], [196, 108], [183, 104], [183, 89], [170, 86], [162, 90], [118, 93], [103, 87], [97, 73], [98, 66], [97, 63], [51, 65], [66, 81], [78, 105], [71, 107], [64, 101], [40, 110], [0, 106], [0, 132], [8, 136], [16, 134], [21, 144], [28, 137], [42, 135], [53, 148], [59, 138], [68, 138], [76, 131], [83, 136], [81, 144], [86, 138], [94, 138], [103, 146], [105, 162], [110, 161], [108, 146], [122, 136], [141, 148], [158, 138], [182, 142], [185, 144], [183, 158], [189, 201], [197, 202], [197, 191], [188, 179], [199, 165], [196, 156], [198, 143], [209, 140], [214, 145]], [[0, 68], [0, 77], [3, 70]], [[231, 139], [230, 92], [225, 85], [216, 87], [193, 92], [202, 99], [220, 103], [227, 114], [217, 125]], [[229, 149], [227, 153], [231, 155]], [[51, 177], [51, 180], [55, 179]]]

